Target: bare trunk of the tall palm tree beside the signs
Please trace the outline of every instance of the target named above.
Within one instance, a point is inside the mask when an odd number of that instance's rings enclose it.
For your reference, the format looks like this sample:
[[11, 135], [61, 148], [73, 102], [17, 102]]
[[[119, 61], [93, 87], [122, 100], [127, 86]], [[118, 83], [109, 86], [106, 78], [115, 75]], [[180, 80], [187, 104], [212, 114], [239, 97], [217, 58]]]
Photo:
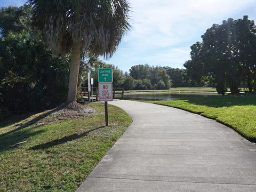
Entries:
[[80, 64], [80, 46], [72, 45], [71, 58], [69, 64], [69, 83], [68, 83], [68, 99], [67, 102], [76, 102], [77, 82]]

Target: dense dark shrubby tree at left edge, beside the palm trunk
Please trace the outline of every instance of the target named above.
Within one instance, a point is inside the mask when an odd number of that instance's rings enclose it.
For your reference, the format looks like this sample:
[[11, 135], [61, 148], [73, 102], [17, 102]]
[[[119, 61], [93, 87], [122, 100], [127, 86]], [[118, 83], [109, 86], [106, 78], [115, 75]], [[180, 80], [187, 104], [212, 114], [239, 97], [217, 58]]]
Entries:
[[52, 57], [36, 34], [0, 38], [0, 106], [15, 112], [56, 107], [67, 94], [67, 63], [68, 58]]

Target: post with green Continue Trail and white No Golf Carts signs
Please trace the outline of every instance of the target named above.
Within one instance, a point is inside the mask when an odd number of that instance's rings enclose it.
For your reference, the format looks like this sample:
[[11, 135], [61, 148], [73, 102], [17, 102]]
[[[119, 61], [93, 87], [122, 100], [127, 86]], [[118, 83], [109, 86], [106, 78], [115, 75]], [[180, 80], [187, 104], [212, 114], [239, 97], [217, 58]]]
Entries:
[[108, 101], [113, 101], [113, 69], [98, 69], [99, 101], [105, 101], [105, 122], [108, 126]]

